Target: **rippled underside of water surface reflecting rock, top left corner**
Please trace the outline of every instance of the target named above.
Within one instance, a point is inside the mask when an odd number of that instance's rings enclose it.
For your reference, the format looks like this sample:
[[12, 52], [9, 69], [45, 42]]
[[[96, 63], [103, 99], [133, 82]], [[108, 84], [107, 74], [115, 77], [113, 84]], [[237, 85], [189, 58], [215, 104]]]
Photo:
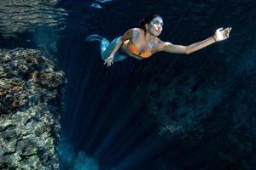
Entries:
[[59, 0], [2, 0], [0, 1], [0, 31], [3, 37], [15, 37], [37, 26], [61, 26], [67, 15], [55, 8]]

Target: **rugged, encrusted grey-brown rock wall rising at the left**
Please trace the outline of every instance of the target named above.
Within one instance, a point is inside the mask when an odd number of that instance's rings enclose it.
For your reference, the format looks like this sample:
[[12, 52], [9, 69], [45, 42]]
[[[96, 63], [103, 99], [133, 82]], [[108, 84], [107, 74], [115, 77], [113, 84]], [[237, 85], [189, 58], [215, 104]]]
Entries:
[[38, 50], [0, 50], [0, 169], [59, 169], [66, 82]]

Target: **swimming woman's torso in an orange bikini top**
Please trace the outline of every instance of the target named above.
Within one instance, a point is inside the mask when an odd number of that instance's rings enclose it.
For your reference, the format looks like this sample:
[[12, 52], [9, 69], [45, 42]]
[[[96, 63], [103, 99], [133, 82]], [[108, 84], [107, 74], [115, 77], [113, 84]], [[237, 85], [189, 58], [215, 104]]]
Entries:
[[160, 42], [158, 37], [154, 37], [154, 41], [147, 42], [143, 29], [139, 29], [134, 33], [130, 40], [123, 42], [121, 50], [125, 51], [131, 57], [136, 59], [145, 59], [156, 52], [157, 44]]

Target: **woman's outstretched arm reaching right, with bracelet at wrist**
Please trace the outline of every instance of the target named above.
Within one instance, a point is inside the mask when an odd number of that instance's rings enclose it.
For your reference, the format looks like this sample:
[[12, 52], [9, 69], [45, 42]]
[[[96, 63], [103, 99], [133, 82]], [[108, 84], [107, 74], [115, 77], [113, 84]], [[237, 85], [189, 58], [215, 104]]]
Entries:
[[203, 40], [201, 42], [195, 42], [188, 46], [175, 45], [175, 44], [172, 44], [171, 42], [164, 42], [160, 48], [160, 51], [166, 51], [169, 53], [176, 53], [176, 54], [191, 54], [195, 51], [200, 50], [201, 48], [205, 48], [208, 45], [211, 45], [214, 42], [223, 41], [228, 37], [230, 37], [230, 31], [232, 28], [229, 27], [224, 30], [222, 29], [223, 28], [218, 28], [212, 37], [208, 37], [206, 40]]

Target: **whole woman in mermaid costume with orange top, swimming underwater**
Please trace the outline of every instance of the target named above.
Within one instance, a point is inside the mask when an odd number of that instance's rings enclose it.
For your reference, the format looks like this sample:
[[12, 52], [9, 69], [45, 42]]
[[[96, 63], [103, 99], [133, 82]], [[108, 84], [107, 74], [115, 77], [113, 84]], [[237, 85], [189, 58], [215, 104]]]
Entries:
[[101, 41], [101, 54], [104, 65], [113, 65], [126, 59], [128, 56], [136, 59], [146, 59], [160, 51], [176, 54], [190, 54], [205, 48], [214, 42], [219, 42], [230, 37], [231, 27], [218, 28], [212, 37], [188, 46], [175, 45], [163, 42], [158, 38], [163, 30], [163, 19], [159, 14], [152, 14], [140, 21], [139, 28], [131, 28], [122, 37], [116, 37], [112, 42], [98, 35], [86, 37], [86, 41]]

